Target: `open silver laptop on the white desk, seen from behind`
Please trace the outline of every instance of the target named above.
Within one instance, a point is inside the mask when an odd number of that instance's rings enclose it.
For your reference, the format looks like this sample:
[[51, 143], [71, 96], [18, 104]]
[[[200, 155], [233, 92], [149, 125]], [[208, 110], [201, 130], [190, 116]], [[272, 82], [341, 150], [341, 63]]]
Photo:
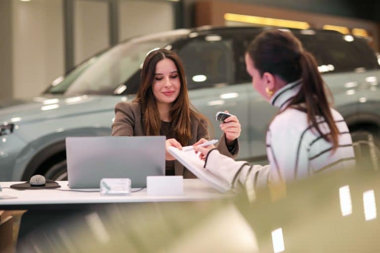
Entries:
[[67, 137], [70, 188], [99, 188], [102, 178], [130, 178], [132, 188], [146, 176], [165, 175], [165, 136]]

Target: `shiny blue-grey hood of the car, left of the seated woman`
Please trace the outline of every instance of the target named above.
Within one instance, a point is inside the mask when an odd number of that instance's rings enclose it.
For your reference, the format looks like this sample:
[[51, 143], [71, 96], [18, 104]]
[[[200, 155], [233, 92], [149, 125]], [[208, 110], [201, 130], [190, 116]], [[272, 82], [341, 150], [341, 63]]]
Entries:
[[0, 124], [4, 122], [25, 124], [29, 122], [64, 118], [91, 112], [113, 110], [120, 101], [117, 96], [39, 96], [23, 100], [3, 101]]

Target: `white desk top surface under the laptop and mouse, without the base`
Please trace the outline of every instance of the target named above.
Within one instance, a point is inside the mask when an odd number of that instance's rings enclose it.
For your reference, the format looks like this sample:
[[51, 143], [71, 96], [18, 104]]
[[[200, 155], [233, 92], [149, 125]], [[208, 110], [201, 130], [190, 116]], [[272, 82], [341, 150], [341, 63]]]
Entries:
[[[20, 182], [0, 182], [3, 188], [0, 192], [1, 206], [16, 205], [51, 205], [51, 204], [102, 204], [102, 203], [137, 203], [137, 202], [174, 202], [174, 201], [203, 201], [229, 196], [222, 194], [199, 179], [184, 179], [183, 195], [147, 195], [146, 188], [141, 191], [131, 193], [130, 196], [101, 196], [99, 192], [78, 192], [70, 191], [67, 181], [58, 181], [61, 188], [57, 189], [36, 189], [36, 190], [15, 190], [9, 187]], [[66, 190], [66, 191], [63, 191]], [[86, 189], [77, 189], [83, 190]], [[88, 189], [91, 190], [91, 189]], [[92, 189], [93, 191], [96, 189]], [[137, 189], [132, 189], [137, 190]], [[15, 199], [1, 199], [1, 196], [8, 195]]]

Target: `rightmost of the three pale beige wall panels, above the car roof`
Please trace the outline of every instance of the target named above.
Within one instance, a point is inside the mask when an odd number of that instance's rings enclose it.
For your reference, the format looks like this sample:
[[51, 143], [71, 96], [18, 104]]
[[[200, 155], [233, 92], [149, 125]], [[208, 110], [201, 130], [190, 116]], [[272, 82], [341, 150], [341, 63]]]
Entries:
[[170, 1], [119, 2], [119, 41], [135, 35], [172, 30], [174, 27], [174, 10]]

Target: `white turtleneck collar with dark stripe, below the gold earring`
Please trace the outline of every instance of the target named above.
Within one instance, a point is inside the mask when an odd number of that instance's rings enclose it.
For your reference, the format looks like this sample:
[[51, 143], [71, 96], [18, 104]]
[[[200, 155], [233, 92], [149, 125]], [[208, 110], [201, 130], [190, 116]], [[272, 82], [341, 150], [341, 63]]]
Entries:
[[273, 106], [276, 106], [282, 110], [286, 107], [286, 105], [290, 102], [290, 100], [298, 93], [301, 89], [301, 79], [286, 84], [281, 89], [277, 90], [275, 94], [273, 94], [270, 103]]

